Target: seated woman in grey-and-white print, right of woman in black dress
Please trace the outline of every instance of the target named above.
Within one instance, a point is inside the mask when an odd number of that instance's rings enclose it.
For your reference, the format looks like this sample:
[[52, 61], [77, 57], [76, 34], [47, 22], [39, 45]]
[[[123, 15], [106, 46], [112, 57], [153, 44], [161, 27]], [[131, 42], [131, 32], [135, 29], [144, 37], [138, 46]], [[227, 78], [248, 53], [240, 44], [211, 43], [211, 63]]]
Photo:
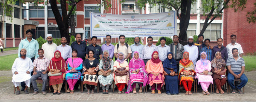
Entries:
[[103, 51], [102, 60], [99, 62], [99, 83], [103, 89], [103, 94], [108, 94], [108, 88], [112, 84], [114, 61], [110, 58], [108, 50]]

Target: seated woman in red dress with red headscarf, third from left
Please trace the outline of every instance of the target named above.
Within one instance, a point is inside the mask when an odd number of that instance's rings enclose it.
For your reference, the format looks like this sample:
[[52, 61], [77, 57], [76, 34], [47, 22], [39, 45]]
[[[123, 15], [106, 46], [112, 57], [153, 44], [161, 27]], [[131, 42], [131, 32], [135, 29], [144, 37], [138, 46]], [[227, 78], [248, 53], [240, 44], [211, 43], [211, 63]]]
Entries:
[[[63, 80], [65, 78], [65, 71], [67, 68], [67, 64], [65, 63], [65, 59], [61, 57], [61, 52], [58, 50], [55, 51], [54, 57], [51, 59], [49, 63], [49, 73], [51, 74], [58, 74], [61, 73], [58, 76], [50, 76], [49, 74], [49, 83], [50, 86], [53, 87], [54, 92], [52, 93], [53, 95], [60, 95], [61, 94], [61, 87], [63, 84]], [[58, 85], [58, 86], [57, 86]]]

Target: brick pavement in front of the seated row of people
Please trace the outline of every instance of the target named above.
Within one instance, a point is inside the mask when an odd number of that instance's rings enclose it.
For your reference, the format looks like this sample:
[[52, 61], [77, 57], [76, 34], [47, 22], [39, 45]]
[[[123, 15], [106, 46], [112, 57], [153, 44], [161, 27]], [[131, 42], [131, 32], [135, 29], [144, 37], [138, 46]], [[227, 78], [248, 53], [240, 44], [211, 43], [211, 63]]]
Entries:
[[[110, 92], [109, 94], [102, 94], [102, 90], [100, 93], [94, 93], [93, 95], [87, 95], [87, 90], [84, 93], [80, 92], [80, 89], [75, 90], [75, 93], [72, 95], [70, 93], [64, 93], [62, 90], [61, 95], [52, 95], [52, 93], [47, 93], [43, 95], [41, 93], [41, 87], [39, 85], [40, 93], [37, 95], [33, 95], [29, 93], [26, 95], [24, 91], [21, 92], [20, 95], [15, 95], [13, 92], [13, 83], [11, 71], [0, 71], [0, 101], [12, 101], [12, 100], [21, 100], [21, 101], [41, 101], [41, 100], [49, 100], [49, 101], [61, 101], [61, 100], [77, 100], [77, 101], [256, 101], [255, 93], [256, 93], [256, 71], [253, 72], [245, 72], [249, 81], [245, 86], [244, 94], [227, 94], [225, 92], [224, 95], [211, 93], [209, 96], [203, 95], [201, 93], [200, 87], [198, 87], [198, 93], [193, 93], [192, 95], [185, 95], [185, 90], [181, 90], [181, 93], [177, 96], [167, 95], [166, 93], [162, 93], [162, 95], [152, 95], [151, 92], [147, 93], [130, 93], [130, 94], [121, 94], [117, 93], [115, 90], [114, 93]], [[138, 90], [138, 89], [137, 89]], [[96, 90], [95, 90], [96, 91]], [[193, 92], [193, 91], [192, 91]]]

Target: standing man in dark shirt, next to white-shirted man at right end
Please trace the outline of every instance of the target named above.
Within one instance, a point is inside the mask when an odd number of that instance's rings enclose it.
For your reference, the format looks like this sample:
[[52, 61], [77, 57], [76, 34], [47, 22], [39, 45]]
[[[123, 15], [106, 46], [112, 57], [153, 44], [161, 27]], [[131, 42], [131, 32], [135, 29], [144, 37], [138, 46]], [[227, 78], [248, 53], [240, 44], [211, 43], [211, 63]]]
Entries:
[[216, 52], [221, 52], [221, 57], [222, 57], [222, 59], [224, 59], [225, 62], [227, 63], [227, 58], [228, 58], [228, 55], [227, 55], [227, 48], [224, 47], [224, 46], [222, 46], [222, 41], [223, 41], [222, 38], [218, 38], [218, 39], [217, 39], [218, 45], [217, 45], [217, 46], [214, 46], [213, 49], [212, 49], [212, 59], [211, 59], [211, 60], [213, 60], [213, 58], [214, 58]]

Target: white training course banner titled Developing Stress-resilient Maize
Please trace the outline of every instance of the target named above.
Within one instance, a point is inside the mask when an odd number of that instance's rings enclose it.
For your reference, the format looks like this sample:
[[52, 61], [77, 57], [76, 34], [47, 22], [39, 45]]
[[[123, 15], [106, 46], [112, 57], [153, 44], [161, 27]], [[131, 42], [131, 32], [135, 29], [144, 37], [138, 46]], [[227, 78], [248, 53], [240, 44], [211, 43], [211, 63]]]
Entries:
[[90, 13], [90, 34], [97, 37], [177, 35], [176, 11], [146, 15]]

